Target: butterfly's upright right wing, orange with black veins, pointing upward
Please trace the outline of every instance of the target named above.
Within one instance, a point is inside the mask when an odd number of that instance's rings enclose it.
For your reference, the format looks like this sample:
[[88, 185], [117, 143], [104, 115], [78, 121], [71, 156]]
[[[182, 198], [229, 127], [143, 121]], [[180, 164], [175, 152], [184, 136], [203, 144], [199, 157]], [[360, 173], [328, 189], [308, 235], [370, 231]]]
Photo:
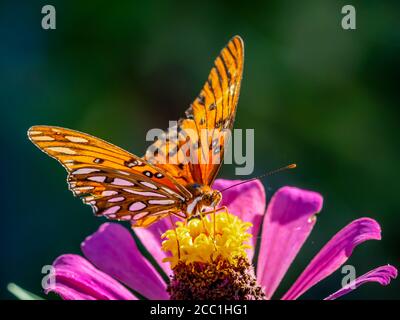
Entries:
[[182, 185], [211, 185], [235, 120], [243, 63], [243, 41], [236, 36], [215, 60], [203, 89], [186, 110], [186, 118], [159, 137], [144, 158]]

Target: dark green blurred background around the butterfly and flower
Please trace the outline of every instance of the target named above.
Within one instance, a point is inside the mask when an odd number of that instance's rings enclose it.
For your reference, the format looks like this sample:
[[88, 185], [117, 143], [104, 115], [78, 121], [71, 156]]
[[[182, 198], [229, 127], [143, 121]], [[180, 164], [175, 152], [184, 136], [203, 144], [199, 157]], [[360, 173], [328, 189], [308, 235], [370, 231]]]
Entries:
[[[198, 94], [220, 49], [243, 37], [246, 59], [236, 128], [255, 129], [254, 175], [296, 162], [264, 180], [319, 191], [314, 231], [278, 292], [351, 220], [370, 216], [382, 241], [359, 246], [357, 274], [400, 266], [399, 1], [351, 1], [357, 30], [341, 28], [348, 1], [264, 3], [178, 1], [2, 1], [1, 269], [7, 283], [44, 296], [41, 268], [104, 222], [72, 197], [65, 172], [27, 139], [34, 124], [65, 126], [133, 153], [147, 130], [166, 128]], [[41, 8], [57, 29], [41, 28]], [[225, 165], [220, 177], [235, 178]], [[304, 299], [338, 289], [340, 271]], [[399, 281], [366, 285], [347, 299], [397, 299]], [[54, 297], [52, 297], [54, 298]]]

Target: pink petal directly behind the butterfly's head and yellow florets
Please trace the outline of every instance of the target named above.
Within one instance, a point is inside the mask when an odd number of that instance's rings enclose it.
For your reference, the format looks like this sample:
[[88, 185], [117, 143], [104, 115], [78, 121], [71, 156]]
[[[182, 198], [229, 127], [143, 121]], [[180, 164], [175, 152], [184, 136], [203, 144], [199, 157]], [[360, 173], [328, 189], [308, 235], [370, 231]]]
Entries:
[[[214, 182], [213, 188], [223, 190], [239, 182], [241, 180], [218, 179]], [[248, 250], [250, 260], [254, 255], [262, 216], [265, 212], [265, 203], [264, 186], [259, 180], [242, 184], [222, 193], [220, 206], [227, 206], [230, 213], [237, 215], [243, 221], [253, 224], [253, 227], [249, 229], [249, 232], [253, 235], [250, 240], [253, 249]]]

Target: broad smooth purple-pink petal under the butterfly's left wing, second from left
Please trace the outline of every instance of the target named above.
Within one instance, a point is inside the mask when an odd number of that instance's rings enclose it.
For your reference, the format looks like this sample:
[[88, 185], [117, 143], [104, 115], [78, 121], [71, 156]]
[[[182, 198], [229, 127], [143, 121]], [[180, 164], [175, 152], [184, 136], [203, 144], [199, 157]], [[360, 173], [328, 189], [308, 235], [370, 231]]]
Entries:
[[82, 243], [85, 256], [97, 268], [148, 299], [168, 299], [166, 284], [140, 253], [130, 232], [116, 223], [104, 223]]

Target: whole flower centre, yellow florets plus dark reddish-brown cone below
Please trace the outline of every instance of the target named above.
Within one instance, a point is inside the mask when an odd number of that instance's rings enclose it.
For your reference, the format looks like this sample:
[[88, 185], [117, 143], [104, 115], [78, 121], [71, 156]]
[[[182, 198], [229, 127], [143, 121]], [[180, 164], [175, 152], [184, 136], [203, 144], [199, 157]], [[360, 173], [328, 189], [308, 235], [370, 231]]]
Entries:
[[162, 249], [170, 254], [164, 262], [174, 272], [171, 299], [263, 299], [246, 252], [251, 223], [216, 211], [179, 221], [162, 235]]

